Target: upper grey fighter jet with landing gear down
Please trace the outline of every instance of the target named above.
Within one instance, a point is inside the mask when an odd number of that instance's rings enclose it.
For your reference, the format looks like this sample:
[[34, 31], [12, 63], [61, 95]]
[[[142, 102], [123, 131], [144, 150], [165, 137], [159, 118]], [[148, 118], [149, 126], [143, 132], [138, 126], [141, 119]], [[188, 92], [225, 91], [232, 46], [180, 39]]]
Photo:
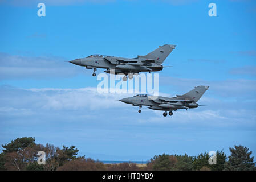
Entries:
[[133, 75], [138, 75], [140, 72], [151, 73], [161, 71], [164, 68], [161, 64], [170, 52], [175, 49], [175, 46], [165, 44], [145, 56], [137, 56], [131, 59], [96, 54], [72, 60], [70, 63], [86, 67], [87, 69], [94, 69], [92, 76], [96, 76], [95, 71], [97, 68], [104, 68], [106, 73], [124, 74], [123, 80], [127, 81], [127, 75], [129, 79], [132, 79]]

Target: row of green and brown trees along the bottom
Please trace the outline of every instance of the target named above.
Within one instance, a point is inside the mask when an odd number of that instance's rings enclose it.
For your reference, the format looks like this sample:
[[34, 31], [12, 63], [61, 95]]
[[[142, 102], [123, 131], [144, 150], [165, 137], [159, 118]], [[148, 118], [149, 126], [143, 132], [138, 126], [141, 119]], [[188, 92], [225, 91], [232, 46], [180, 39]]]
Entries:
[[[73, 170], [111, 170], [111, 171], [255, 171], [254, 157], [248, 147], [229, 148], [227, 156], [223, 150], [216, 152], [216, 164], [209, 164], [209, 154], [197, 156], [155, 155], [140, 167], [135, 163], [103, 164], [99, 160], [78, 156], [75, 146], [55, 147], [52, 144], [36, 144], [35, 138], [22, 137], [2, 144], [0, 170], [5, 171], [73, 171]], [[45, 152], [45, 164], [38, 164], [38, 151]]]

